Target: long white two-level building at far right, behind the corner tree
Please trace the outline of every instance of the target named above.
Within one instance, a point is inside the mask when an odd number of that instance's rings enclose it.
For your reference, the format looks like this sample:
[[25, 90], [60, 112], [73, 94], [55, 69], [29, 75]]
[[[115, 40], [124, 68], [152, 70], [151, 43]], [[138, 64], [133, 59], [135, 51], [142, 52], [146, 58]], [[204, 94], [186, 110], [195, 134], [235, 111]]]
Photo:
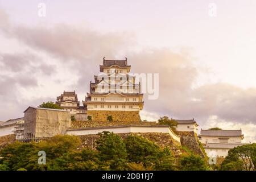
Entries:
[[208, 156], [226, 156], [231, 148], [242, 146], [242, 130], [202, 130], [199, 140]]

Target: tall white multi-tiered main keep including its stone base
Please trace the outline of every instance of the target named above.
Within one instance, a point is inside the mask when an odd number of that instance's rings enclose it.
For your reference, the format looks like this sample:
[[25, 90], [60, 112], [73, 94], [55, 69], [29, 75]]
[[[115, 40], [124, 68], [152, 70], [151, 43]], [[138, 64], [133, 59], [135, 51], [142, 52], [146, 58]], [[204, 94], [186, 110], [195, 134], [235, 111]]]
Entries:
[[114, 121], [141, 121], [143, 109], [141, 83], [135, 84], [130, 65], [125, 60], [105, 60], [100, 65], [100, 74], [90, 82], [84, 106], [93, 120], [106, 121], [112, 115]]

